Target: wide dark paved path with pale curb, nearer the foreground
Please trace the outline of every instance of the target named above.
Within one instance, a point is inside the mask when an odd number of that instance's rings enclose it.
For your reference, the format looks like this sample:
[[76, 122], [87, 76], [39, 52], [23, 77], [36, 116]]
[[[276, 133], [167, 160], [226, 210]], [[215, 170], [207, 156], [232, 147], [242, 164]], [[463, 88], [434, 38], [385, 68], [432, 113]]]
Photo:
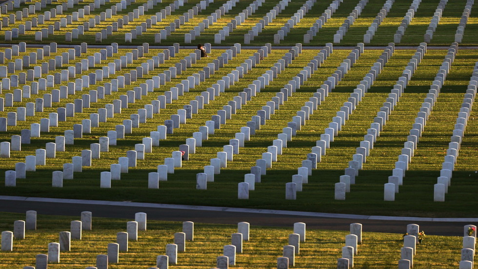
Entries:
[[134, 218], [136, 212], [146, 212], [150, 220], [193, 221], [199, 223], [237, 224], [241, 221], [256, 226], [293, 227], [304, 222], [308, 229], [348, 230], [351, 223], [363, 224], [363, 231], [403, 233], [406, 225], [415, 223], [426, 234], [463, 236], [463, 226], [477, 224], [478, 218], [414, 218], [346, 215], [301, 211], [265, 210], [232, 207], [199, 207], [134, 202], [53, 199], [0, 196], [0, 211], [80, 216], [91, 211], [94, 217]]

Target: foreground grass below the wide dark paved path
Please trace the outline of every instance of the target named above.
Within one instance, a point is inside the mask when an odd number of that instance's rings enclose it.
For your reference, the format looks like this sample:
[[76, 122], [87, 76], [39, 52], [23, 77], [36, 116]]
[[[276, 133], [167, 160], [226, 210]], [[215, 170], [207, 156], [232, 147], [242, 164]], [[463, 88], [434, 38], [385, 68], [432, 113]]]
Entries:
[[[94, 214], [94, 212], [93, 212]], [[24, 214], [0, 213], [0, 230], [13, 230], [13, 222], [23, 219]], [[13, 252], [0, 252], [0, 269], [34, 266], [35, 255], [47, 253], [47, 245], [58, 242], [59, 232], [70, 229], [70, 221], [79, 217], [38, 215], [37, 230], [27, 230], [24, 240], [14, 240]], [[134, 219], [134, 216], [132, 216]], [[60, 253], [60, 264], [49, 264], [54, 269], [83, 269], [95, 266], [96, 256], [106, 254], [108, 243], [116, 242], [116, 233], [126, 230], [126, 222], [132, 219], [106, 219], [93, 217], [93, 230], [83, 231], [82, 240], [72, 240], [71, 251]], [[275, 269], [282, 247], [288, 245], [288, 228], [251, 226], [250, 240], [243, 242], [243, 253], [236, 255], [237, 269]], [[180, 232], [180, 222], [148, 220], [147, 230], [139, 231], [138, 241], [129, 242], [129, 251], [119, 253], [119, 264], [112, 269], [148, 268], [156, 266], [156, 256], [165, 254], [166, 244], [172, 244], [174, 233]], [[403, 228], [406, 230], [406, 227]], [[195, 223], [194, 241], [186, 241], [186, 252], [178, 252], [180, 269], [206, 269], [216, 266], [216, 257], [222, 248], [231, 244], [231, 234], [236, 225]], [[425, 230], [426, 233], [426, 230]], [[300, 243], [300, 254], [295, 256], [297, 269], [337, 268], [345, 235], [349, 231], [307, 229], [306, 242]], [[458, 268], [461, 237], [427, 235], [417, 245], [414, 268]], [[402, 234], [362, 233], [362, 245], [354, 257], [355, 268], [396, 268], [403, 247]]]

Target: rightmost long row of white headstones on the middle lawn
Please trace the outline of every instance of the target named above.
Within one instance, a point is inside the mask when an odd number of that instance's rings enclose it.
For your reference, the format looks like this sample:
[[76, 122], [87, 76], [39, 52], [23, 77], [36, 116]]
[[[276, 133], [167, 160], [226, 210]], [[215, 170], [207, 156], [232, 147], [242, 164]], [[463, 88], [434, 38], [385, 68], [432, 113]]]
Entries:
[[[452, 62], [451, 58], [450, 62]], [[455, 164], [458, 159], [458, 152], [460, 150], [463, 135], [466, 130], [468, 118], [473, 108], [475, 96], [478, 86], [478, 66], [475, 64], [473, 74], [470, 78], [470, 83], [463, 97], [460, 110], [458, 112], [457, 121], [453, 128], [453, 133], [448, 143], [448, 149], [443, 163], [441, 164], [440, 176], [437, 178], [437, 184], [434, 186], [434, 201], [444, 202], [445, 194], [448, 193], [448, 186], [451, 185], [452, 173], [455, 170]]]

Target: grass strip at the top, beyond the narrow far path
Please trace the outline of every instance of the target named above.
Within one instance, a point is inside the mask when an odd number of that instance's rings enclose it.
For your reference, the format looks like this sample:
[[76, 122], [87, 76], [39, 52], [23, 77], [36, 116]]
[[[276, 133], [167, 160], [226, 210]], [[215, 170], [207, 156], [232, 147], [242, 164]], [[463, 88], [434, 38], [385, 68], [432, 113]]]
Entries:
[[[3, 30], [11, 30], [12, 28], [18, 27], [18, 25], [24, 23], [26, 20], [31, 20], [32, 18], [38, 17], [39, 14], [43, 14], [44, 11], [50, 10], [50, 8], [55, 8], [57, 4], [65, 2], [63, 0], [55, 2], [52, 5], [48, 5], [46, 8], [41, 11], [37, 11], [37, 14], [29, 15], [29, 18], [24, 18], [23, 21], [15, 21], [15, 23], [10, 24], [8, 27], [3, 27]], [[33, 27], [32, 30], [26, 31], [25, 35], [20, 35], [18, 39], [13, 41], [7, 41], [10, 43], [18, 43], [20, 41], [26, 41], [30, 43], [49, 43], [52, 41], [59, 43], [65, 42], [66, 32], [71, 32], [72, 29], [77, 28], [79, 25], [83, 25], [84, 21], [93, 19], [95, 16], [99, 16], [101, 12], [105, 12], [106, 9], [110, 6], [119, 2], [119, 0], [112, 0], [109, 3], [106, 3], [104, 6], [91, 11], [90, 15], [85, 15], [84, 18], [80, 18], [80, 21], [73, 21], [71, 24], [68, 24], [66, 27], [62, 27], [60, 30], [56, 30], [53, 35], [49, 35], [48, 38], [44, 38], [42, 41], [35, 41], [35, 32], [40, 31], [42, 28], [48, 28], [48, 25], [54, 25], [56, 21], [60, 21], [60, 18], [65, 18], [67, 15], [71, 15], [71, 12], [77, 11], [78, 8], [82, 8], [83, 5], [93, 2], [92, 0], [85, 0], [79, 5], [76, 5], [74, 8], [70, 8], [67, 11], [64, 11], [62, 15], [57, 15], [56, 18], [52, 18], [51, 21], [45, 21], [45, 24], [38, 25], [38, 27]], [[101, 29], [106, 29], [107, 26], [112, 25], [113, 22], [116, 22], [118, 19], [122, 19], [123, 16], [128, 15], [128, 12], [132, 12], [133, 9], [138, 8], [143, 3], [146, 3], [147, 0], [137, 0], [128, 6], [128, 9], [118, 12], [117, 15], [112, 16], [110, 19], [102, 21], [100, 24], [97, 24], [95, 28], [90, 28], [90, 31], [85, 32], [83, 36], [80, 36], [80, 39], [73, 40], [73, 42], [87, 42], [89, 44], [110, 44], [112, 42], [124, 43], [124, 34], [130, 33], [132, 29], [135, 29], [136, 26], [140, 26], [141, 22], [145, 22], [147, 19], [150, 19], [151, 16], [156, 15], [156, 12], [159, 12], [161, 9], [164, 9], [165, 6], [168, 6], [173, 0], [164, 0], [161, 3], [158, 3], [153, 9], [150, 9], [144, 13], [144, 15], [139, 16], [138, 19], [135, 19], [129, 24], [124, 25], [123, 28], [119, 28], [118, 32], [113, 32], [113, 35], [108, 36], [107, 39], [104, 39], [102, 42], [95, 41], [95, 34], [100, 32]], [[179, 29], [176, 29], [175, 32], [171, 33], [166, 40], [162, 40], [161, 43], [157, 45], [170, 45], [172, 43], [178, 42], [184, 44], [184, 34], [189, 33], [190, 30], [193, 30], [195, 26], [198, 26], [199, 22], [202, 22], [203, 19], [206, 19], [207, 16], [210, 16], [211, 13], [219, 9], [226, 0], [216, 0], [214, 3], [210, 3], [209, 6], [200, 12], [198, 15], [195, 15], [190, 21], [185, 22], [180, 26]], [[219, 30], [226, 26], [232, 19], [235, 19], [242, 10], [246, 9], [252, 0], [240, 1], [233, 7], [228, 13], [221, 16], [217, 22], [213, 25], [210, 25], [208, 29], [201, 33], [199, 37], [196, 37], [196, 40], [192, 41], [192, 45], [196, 43], [206, 43], [214, 42], [214, 34], [219, 33]], [[307, 33], [307, 30], [319, 19], [324, 10], [329, 6], [331, 1], [318, 1], [314, 4], [311, 10], [305, 14], [304, 18], [291, 29], [287, 37], [283, 41], [280, 41], [279, 45], [294, 45], [297, 42], [303, 41], [303, 35]], [[182, 16], [184, 12], [188, 12], [193, 6], [199, 3], [199, 0], [189, 0], [187, 3], [184, 3], [184, 6], [179, 7], [167, 16], [167, 18], [158, 22], [156, 25], [152, 25], [151, 28], [148, 28], [145, 33], [139, 35], [136, 40], [133, 40], [132, 44], [142, 44], [143, 42], [149, 42], [150, 44], [154, 43], [154, 35], [159, 33], [161, 29], [169, 26], [171, 22], [174, 22], [175, 19], [178, 19], [179, 16]], [[249, 16], [242, 24], [238, 25], [236, 29], [226, 37], [225, 41], [221, 42], [221, 45], [232, 45], [234, 43], [243, 43], [244, 34], [247, 34], [249, 30], [252, 30], [253, 26], [256, 26], [256, 23], [259, 20], [262, 20], [263, 17], [271, 9], [273, 9], [279, 1], [265, 1], [258, 8], [258, 10]], [[279, 15], [271, 23], [262, 29], [262, 32], [259, 33], [259, 36], [255, 37], [251, 41], [251, 45], [262, 45], [266, 42], [273, 43], [273, 35], [277, 34], [277, 31], [280, 30], [280, 27], [293, 16], [298, 9], [305, 3], [305, 1], [291, 1], [289, 5], [282, 10]], [[343, 41], [340, 42], [340, 45], [355, 45], [357, 42], [363, 41], [363, 35], [366, 34], [368, 27], [371, 25], [373, 20], [376, 18], [378, 12], [382, 8], [385, 0], [370, 0], [365, 8], [362, 10], [361, 15], [355, 21], [353, 25], [350, 26], [346, 35], [343, 38]], [[20, 5], [20, 8], [9, 11], [9, 14], [15, 14], [16, 11], [21, 10], [21, 8], [28, 7], [28, 4]], [[339, 30], [339, 27], [342, 26], [342, 23], [347, 16], [354, 10], [355, 6], [358, 4], [356, 0], [344, 0], [337, 11], [333, 14], [332, 18], [328, 20], [324, 26], [319, 29], [319, 33], [316, 37], [310, 42], [310, 45], [324, 45], [327, 42], [333, 41], [333, 35]], [[394, 34], [396, 33], [398, 26], [400, 25], [403, 17], [410, 7], [411, 1], [396, 1], [390, 12], [387, 14], [386, 18], [379, 25], [378, 30], [371, 41], [370, 45], [386, 45], [389, 42], [394, 41]], [[466, 0], [455, 0], [453, 3], [448, 3], [445, 6], [443, 11], [442, 18], [438, 24], [434, 38], [431, 41], [433, 45], [449, 45], [450, 42], [455, 40], [455, 33], [458, 27], [459, 20], [461, 18], [461, 13], [465, 7]], [[423, 0], [421, 1], [415, 17], [407, 27], [405, 35], [402, 37], [400, 45], [418, 45], [423, 41], [423, 36], [427, 27], [432, 19], [434, 12], [438, 6], [437, 0]], [[462, 40], [463, 45], [476, 45], [475, 36], [477, 34], [478, 27], [478, 15], [475, 12], [472, 12], [469, 20], [467, 22], [467, 27], [465, 29], [465, 35]], [[5, 16], [7, 17], [7, 16]], [[4, 34], [0, 33], [0, 40], [4, 40]], [[185, 44], [187, 45], [187, 44]]]

